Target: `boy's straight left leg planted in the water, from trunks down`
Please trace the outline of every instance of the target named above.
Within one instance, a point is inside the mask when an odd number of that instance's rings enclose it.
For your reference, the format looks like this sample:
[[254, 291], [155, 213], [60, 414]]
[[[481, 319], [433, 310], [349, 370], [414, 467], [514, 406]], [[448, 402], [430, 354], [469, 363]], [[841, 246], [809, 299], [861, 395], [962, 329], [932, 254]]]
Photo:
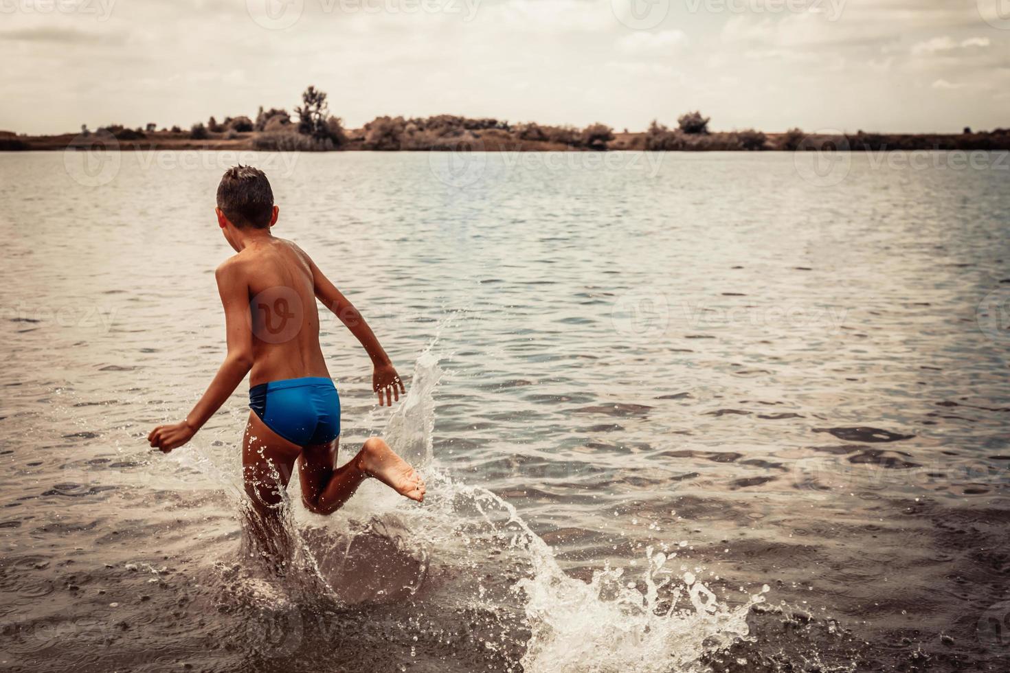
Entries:
[[242, 440], [242, 480], [249, 497], [250, 532], [260, 550], [277, 560], [285, 557], [286, 531], [280, 510], [282, 490], [301, 448], [278, 436], [249, 412]]

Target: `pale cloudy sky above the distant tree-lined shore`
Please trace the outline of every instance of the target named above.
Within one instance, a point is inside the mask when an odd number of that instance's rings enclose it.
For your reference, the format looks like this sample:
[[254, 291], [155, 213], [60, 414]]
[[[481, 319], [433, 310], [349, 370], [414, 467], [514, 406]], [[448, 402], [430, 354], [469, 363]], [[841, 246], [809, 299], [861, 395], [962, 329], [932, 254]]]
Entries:
[[378, 115], [1010, 127], [1010, 0], [0, 0], [0, 129]]

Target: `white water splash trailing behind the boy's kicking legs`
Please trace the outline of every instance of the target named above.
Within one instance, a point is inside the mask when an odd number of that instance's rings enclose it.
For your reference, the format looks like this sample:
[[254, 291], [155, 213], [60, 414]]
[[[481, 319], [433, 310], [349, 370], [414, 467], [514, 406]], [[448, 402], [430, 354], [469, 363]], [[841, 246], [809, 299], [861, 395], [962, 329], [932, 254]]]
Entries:
[[[293, 545], [281, 584], [286, 597], [277, 598], [277, 586], [267, 587], [255, 591], [258, 602], [282, 605], [320, 591], [341, 605], [395, 601], [423, 586], [430, 564], [454, 566], [453, 599], [503, 614], [504, 601], [514, 603], [518, 621], [502, 625], [512, 634], [508, 642], [485, 647], [500, 649], [527, 673], [701, 671], [707, 670], [703, 655], [747, 637], [745, 619], [761, 595], [730, 608], [692, 573], [675, 576], [666, 568], [667, 556], [651, 548], [637, 582], [611, 568], [594, 573], [589, 583], [573, 578], [512, 503], [438, 469], [432, 443], [442, 376], [436, 342], [417, 358], [411, 388], [383, 432], [428, 481], [425, 503], [418, 507], [374, 480], [325, 519], [286, 497], [280, 522]], [[495, 595], [480, 578], [505, 557], [516, 579], [507, 582], [510, 595]], [[372, 581], [362, 579], [362, 570], [372, 573]]]

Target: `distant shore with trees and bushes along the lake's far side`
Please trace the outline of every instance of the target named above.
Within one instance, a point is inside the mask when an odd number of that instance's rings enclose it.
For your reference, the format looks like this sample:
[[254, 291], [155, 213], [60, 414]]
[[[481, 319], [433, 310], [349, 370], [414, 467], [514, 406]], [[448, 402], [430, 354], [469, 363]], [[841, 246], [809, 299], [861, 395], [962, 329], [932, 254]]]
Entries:
[[686, 112], [676, 126], [653, 120], [640, 132], [615, 131], [600, 122], [572, 125], [510, 123], [491, 117], [440, 114], [430, 117], [376, 117], [361, 128], [347, 129], [330, 114], [325, 92], [309, 86], [301, 104], [284, 108], [260, 106], [256, 118], [239, 115], [220, 122], [211, 116], [188, 130], [148, 123], [129, 128], [108, 124], [80, 133], [24, 135], [0, 131], [0, 150], [194, 150], [233, 151], [796, 151], [796, 150], [994, 150], [1010, 149], [1010, 129], [962, 133], [807, 132], [791, 128], [765, 133], [752, 128], [712, 131], [710, 117]]

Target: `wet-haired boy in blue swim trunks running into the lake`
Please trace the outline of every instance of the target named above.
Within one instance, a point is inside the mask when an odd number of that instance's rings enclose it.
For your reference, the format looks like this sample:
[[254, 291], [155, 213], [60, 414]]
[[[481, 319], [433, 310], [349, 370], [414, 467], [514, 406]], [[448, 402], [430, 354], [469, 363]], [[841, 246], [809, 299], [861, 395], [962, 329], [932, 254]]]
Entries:
[[316, 514], [335, 512], [369, 476], [422, 501], [420, 476], [378, 437], [370, 437], [350, 462], [334, 468], [340, 402], [319, 347], [317, 299], [371, 356], [379, 404], [391, 406], [406, 389], [350, 302], [301, 248], [271, 233], [278, 208], [267, 176], [252, 166], [225, 171], [216, 212], [221, 233], [237, 252], [215, 273], [228, 354], [186, 420], [155, 428], [147, 441], [165, 453], [188, 442], [251, 370], [242, 474], [261, 517], [279, 517], [281, 489], [296, 463], [302, 501]]

